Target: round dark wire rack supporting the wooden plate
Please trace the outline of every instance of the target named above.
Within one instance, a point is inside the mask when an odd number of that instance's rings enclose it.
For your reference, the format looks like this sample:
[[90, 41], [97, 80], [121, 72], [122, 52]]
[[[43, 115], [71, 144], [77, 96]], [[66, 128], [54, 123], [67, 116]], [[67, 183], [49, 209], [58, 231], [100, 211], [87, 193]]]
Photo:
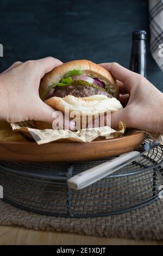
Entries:
[[[149, 141], [147, 138], [145, 143]], [[3, 199], [38, 214], [79, 218], [121, 214], [159, 198], [163, 185], [161, 145], [83, 190], [67, 187], [72, 175], [110, 159], [53, 164], [0, 162]]]

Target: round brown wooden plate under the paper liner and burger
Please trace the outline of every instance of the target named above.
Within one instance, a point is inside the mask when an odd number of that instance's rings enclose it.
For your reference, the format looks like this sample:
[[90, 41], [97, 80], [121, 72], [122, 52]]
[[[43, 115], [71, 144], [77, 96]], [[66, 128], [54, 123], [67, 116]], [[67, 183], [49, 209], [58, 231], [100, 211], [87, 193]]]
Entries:
[[71, 162], [89, 161], [116, 156], [138, 147], [145, 139], [145, 132], [115, 139], [87, 143], [51, 142], [0, 142], [0, 160], [21, 162]]

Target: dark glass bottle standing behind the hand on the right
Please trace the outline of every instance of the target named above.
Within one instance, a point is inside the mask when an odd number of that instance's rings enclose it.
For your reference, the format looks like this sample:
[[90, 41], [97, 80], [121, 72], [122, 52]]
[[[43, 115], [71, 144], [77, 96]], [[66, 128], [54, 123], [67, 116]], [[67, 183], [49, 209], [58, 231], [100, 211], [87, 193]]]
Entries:
[[131, 47], [130, 67], [131, 71], [146, 77], [146, 31], [133, 32], [133, 44]]

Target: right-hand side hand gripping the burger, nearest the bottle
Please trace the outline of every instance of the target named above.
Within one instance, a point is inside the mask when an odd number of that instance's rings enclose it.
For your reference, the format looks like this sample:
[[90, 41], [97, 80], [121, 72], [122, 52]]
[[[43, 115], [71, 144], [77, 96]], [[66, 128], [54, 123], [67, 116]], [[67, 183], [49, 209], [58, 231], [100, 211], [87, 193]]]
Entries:
[[123, 121], [127, 127], [163, 135], [163, 94], [145, 77], [117, 63], [100, 64], [117, 79], [123, 109], [111, 113], [111, 126]]

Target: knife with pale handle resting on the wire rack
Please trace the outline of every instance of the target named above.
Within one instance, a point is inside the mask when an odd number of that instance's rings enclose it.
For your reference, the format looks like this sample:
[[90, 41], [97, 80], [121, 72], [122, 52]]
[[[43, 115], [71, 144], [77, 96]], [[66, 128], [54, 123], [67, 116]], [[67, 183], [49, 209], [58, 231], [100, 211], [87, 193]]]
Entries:
[[67, 185], [73, 190], [81, 190], [96, 181], [105, 178], [106, 176], [116, 172], [118, 169], [126, 166], [128, 163], [133, 162], [137, 157], [143, 155], [147, 151], [158, 147], [159, 143], [156, 141], [151, 141], [141, 145], [134, 151], [122, 154], [112, 160], [105, 163], [99, 164], [93, 168], [85, 170], [82, 173], [72, 176], [67, 180]]

